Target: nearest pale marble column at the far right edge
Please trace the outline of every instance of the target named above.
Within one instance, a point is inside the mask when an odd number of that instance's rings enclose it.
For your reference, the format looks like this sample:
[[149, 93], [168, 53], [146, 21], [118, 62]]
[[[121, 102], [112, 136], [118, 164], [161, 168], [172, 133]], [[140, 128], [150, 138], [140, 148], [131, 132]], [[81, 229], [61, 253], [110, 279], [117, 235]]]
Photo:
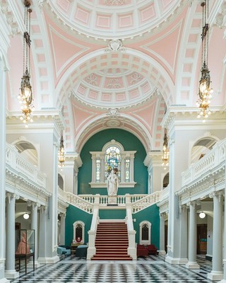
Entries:
[[[211, 197], [211, 195], [210, 195]], [[222, 192], [213, 194], [213, 259], [212, 271], [208, 279], [220, 280], [222, 270]]]

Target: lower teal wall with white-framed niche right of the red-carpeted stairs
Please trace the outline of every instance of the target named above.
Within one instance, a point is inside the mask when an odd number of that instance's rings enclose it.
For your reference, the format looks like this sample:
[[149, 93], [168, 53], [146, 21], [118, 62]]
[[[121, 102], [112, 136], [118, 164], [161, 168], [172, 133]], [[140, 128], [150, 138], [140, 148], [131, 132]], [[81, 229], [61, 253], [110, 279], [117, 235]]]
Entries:
[[133, 214], [133, 219], [136, 219], [136, 222], [133, 222], [134, 230], [136, 230], [136, 243], [140, 243], [140, 223], [142, 221], [149, 221], [151, 223], [151, 243], [155, 245], [157, 249], [160, 248], [160, 214], [159, 208], [156, 204], [153, 204], [151, 207], [141, 210]]

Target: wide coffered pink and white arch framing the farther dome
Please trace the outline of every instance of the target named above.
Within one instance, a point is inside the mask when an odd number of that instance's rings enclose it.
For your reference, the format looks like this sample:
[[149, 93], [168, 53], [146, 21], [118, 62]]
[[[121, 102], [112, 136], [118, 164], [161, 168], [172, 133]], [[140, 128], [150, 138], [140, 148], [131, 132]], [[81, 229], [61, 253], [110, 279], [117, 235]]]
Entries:
[[[71, 64], [71, 67], [61, 76], [56, 88], [57, 108], [61, 108], [61, 106], [64, 105], [64, 100], [69, 96], [69, 93], [73, 93], [75, 86], [78, 86], [81, 80], [85, 79], [86, 76], [92, 74], [93, 69], [100, 71], [112, 65], [114, 68], [124, 66], [125, 69], [131, 69], [133, 71], [139, 70], [142, 76], [150, 79], [153, 88], [157, 89], [157, 91], [162, 94], [167, 105], [174, 103], [172, 95], [175, 92], [175, 86], [172, 77], [162, 67], [160, 62], [157, 62], [153, 57], [141, 51], [131, 48], [126, 48], [125, 52], [106, 52], [105, 49], [100, 49], [90, 52], [78, 59]], [[103, 66], [105, 66], [105, 68]], [[153, 76], [153, 74], [155, 74], [155, 76]], [[139, 103], [141, 103], [141, 101], [139, 101]], [[99, 105], [100, 108], [104, 107], [100, 103], [97, 103], [97, 105]]]

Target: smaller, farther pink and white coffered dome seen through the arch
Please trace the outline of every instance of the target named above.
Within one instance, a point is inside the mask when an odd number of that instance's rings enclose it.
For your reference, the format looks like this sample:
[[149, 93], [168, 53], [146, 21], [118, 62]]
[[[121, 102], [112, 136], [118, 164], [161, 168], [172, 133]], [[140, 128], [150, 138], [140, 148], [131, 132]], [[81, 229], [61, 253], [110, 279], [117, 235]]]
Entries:
[[86, 76], [74, 91], [85, 103], [120, 108], [150, 98], [154, 90], [150, 81], [138, 72], [111, 68]]

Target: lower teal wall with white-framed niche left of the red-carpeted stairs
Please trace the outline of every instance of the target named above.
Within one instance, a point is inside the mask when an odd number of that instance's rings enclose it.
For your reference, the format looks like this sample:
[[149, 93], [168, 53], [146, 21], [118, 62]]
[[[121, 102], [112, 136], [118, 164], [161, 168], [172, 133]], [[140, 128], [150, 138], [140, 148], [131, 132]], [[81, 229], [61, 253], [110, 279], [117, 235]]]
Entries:
[[71, 246], [73, 240], [73, 223], [76, 221], [83, 221], [85, 224], [85, 241], [88, 243], [88, 231], [90, 231], [91, 221], [93, 214], [88, 214], [83, 212], [83, 210], [69, 205], [66, 209], [66, 218], [65, 218], [65, 245]]

